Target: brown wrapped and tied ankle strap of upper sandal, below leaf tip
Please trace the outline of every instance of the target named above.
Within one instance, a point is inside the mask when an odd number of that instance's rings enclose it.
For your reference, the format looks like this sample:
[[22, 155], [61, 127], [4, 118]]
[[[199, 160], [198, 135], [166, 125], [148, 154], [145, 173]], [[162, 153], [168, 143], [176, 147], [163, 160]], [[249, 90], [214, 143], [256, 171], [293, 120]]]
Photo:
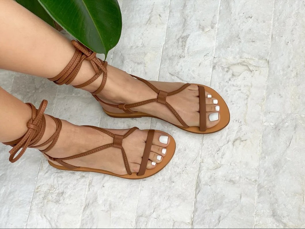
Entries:
[[97, 78], [99, 78], [99, 76], [102, 75], [102, 73], [104, 73], [101, 85], [95, 92], [91, 93], [93, 96], [95, 96], [102, 91], [102, 89], [104, 88], [104, 86], [106, 84], [106, 80], [107, 80], [107, 68], [106, 67], [107, 67], [108, 63], [107, 63], [107, 61], [103, 61], [103, 60], [97, 58], [95, 52], [93, 52], [91, 49], [88, 49], [86, 46], [84, 46], [80, 42], [73, 40], [71, 43], [75, 47], [75, 53], [74, 53], [72, 59], [67, 64], [67, 66], [63, 69], [63, 71], [61, 71], [57, 76], [55, 76], [53, 78], [49, 78], [49, 80], [53, 81], [57, 85], [70, 84], [76, 77], [77, 73], [79, 72], [83, 61], [88, 60], [88, 61], [90, 61], [96, 74], [88, 81], [86, 81], [80, 85], [73, 86], [73, 87], [82, 88], [82, 87], [88, 86], [89, 84], [94, 82]]

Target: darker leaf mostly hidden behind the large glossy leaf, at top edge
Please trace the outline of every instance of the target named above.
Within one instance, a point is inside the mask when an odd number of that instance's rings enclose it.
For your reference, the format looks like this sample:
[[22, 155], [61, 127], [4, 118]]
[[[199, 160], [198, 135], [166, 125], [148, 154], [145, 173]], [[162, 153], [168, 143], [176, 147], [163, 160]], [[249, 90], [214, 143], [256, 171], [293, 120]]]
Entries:
[[48, 15], [48, 13], [45, 11], [45, 9], [40, 5], [40, 3], [37, 0], [16, 0], [16, 2], [18, 2], [20, 5], [27, 8], [36, 16], [40, 17], [50, 26], [55, 28], [53, 18], [50, 17], [50, 15]]

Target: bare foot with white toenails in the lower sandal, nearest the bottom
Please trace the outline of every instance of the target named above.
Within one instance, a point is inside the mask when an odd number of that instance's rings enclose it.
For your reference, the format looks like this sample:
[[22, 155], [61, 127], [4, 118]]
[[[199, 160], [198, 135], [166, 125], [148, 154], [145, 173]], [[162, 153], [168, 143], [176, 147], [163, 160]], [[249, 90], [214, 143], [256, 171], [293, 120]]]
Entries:
[[[56, 131], [54, 121], [48, 115], [45, 115], [45, 117], [47, 128], [43, 138], [38, 144], [46, 141]], [[113, 143], [112, 137], [96, 129], [74, 125], [65, 120], [62, 120], [62, 123], [63, 126], [56, 144], [47, 152], [47, 154], [53, 158], [70, 157], [105, 144]], [[129, 129], [107, 130], [114, 134], [124, 135]], [[124, 138], [123, 147], [132, 173], [138, 173], [140, 169], [146, 139], [147, 131], [139, 129]], [[149, 160], [146, 166], [147, 169], [153, 169], [158, 166], [158, 163], [162, 162], [163, 157], [166, 157], [166, 148], [169, 142], [170, 138], [168, 135], [164, 135], [164, 133], [157, 131], [155, 132]], [[43, 150], [46, 147], [47, 146], [44, 146], [38, 149]], [[56, 162], [51, 162], [60, 165]], [[84, 157], [66, 160], [64, 162], [74, 166], [102, 169], [119, 175], [127, 174], [122, 151], [121, 149], [114, 147], [109, 147], [102, 151]]]

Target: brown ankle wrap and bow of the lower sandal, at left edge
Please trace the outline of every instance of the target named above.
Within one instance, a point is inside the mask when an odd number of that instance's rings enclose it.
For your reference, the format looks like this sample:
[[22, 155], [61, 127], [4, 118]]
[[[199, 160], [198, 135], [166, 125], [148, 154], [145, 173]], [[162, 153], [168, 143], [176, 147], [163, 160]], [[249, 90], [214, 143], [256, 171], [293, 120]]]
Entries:
[[[42, 138], [43, 134], [45, 133], [45, 116], [43, 115], [45, 108], [47, 107], [48, 101], [43, 100], [39, 106], [39, 109], [37, 110], [36, 107], [31, 104], [27, 103], [29, 107], [32, 109], [32, 118], [27, 122], [27, 133], [23, 135], [21, 138], [11, 141], [11, 142], [5, 142], [3, 144], [5, 145], [10, 145], [13, 147], [9, 151], [11, 154], [9, 156], [9, 161], [10, 162], [16, 162], [26, 151], [27, 147], [33, 148], [33, 147], [42, 147], [45, 146], [49, 143], [51, 143], [45, 150], [41, 150], [42, 153], [45, 153], [49, 151], [55, 144], [58, 139], [62, 123], [59, 118], [54, 118], [53, 116], [49, 115], [56, 123], [56, 131], [55, 133], [44, 143], [40, 145], [36, 145]], [[20, 151], [20, 149], [22, 150]], [[20, 151], [19, 154], [18, 151]], [[17, 154], [17, 156], [16, 156]]]

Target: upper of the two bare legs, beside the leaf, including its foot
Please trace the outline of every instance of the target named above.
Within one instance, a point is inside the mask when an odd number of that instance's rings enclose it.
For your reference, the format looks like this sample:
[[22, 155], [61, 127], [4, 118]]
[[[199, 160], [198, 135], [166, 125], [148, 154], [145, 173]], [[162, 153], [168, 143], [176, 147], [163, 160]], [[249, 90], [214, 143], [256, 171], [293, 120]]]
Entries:
[[[15, 12], [18, 12], [18, 17], [14, 16]], [[0, 1], [0, 20], [2, 21], [0, 24], [0, 53], [5, 53], [5, 58], [0, 60], [0, 68], [52, 78], [62, 71], [74, 54], [74, 48], [69, 40], [13, 0]], [[98, 94], [99, 98], [104, 101], [112, 104], [131, 104], [156, 98], [154, 91], [126, 72], [109, 65], [107, 71], [106, 85]], [[71, 85], [80, 85], [93, 75], [95, 75], [95, 71], [89, 61], [84, 60], [80, 72]], [[94, 92], [101, 85], [102, 77], [103, 75], [82, 89]], [[183, 85], [167, 82], [151, 83], [165, 91], [172, 91]], [[210, 128], [219, 122], [218, 111], [221, 107], [217, 106], [216, 99], [210, 98], [208, 95], [207, 91], [206, 126]], [[180, 114], [187, 125], [199, 126], [199, 90], [196, 85], [190, 85], [181, 93], [168, 96], [167, 99], [167, 102]], [[122, 112], [119, 109], [101, 105], [108, 111]], [[175, 125], [181, 125], [163, 104], [154, 102], [135, 107], [133, 110], [155, 115]], [[211, 114], [214, 116], [209, 119]]]

